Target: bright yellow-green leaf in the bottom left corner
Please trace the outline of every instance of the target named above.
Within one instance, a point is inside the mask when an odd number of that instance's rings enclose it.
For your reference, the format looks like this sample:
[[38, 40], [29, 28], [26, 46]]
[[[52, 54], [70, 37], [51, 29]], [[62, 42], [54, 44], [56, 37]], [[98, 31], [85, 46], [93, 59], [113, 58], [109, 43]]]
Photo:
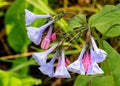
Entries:
[[41, 83], [41, 79], [0, 70], [0, 86], [33, 86]]

